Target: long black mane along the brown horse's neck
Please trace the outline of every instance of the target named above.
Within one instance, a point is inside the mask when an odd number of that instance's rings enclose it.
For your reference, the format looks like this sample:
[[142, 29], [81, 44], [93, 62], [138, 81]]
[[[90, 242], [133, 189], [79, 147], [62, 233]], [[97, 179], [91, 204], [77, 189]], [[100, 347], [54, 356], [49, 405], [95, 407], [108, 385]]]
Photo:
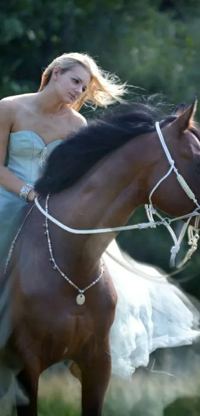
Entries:
[[134, 137], [155, 130], [155, 121], [167, 123], [175, 116], [163, 116], [147, 104], [120, 104], [73, 133], [50, 154], [43, 175], [35, 184], [41, 195], [57, 193], [74, 185], [98, 161]]

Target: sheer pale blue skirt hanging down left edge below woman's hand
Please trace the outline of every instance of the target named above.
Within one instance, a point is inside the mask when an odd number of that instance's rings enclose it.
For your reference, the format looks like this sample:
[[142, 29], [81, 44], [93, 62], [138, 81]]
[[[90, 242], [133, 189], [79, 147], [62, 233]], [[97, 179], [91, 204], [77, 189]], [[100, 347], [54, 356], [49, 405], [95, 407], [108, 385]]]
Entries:
[[18, 363], [4, 348], [12, 331], [12, 281], [4, 276], [4, 268], [10, 244], [21, 225], [21, 209], [25, 205], [17, 195], [0, 186], [0, 416], [10, 415], [16, 403], [27, 403], [16, 380], [20, 370]]

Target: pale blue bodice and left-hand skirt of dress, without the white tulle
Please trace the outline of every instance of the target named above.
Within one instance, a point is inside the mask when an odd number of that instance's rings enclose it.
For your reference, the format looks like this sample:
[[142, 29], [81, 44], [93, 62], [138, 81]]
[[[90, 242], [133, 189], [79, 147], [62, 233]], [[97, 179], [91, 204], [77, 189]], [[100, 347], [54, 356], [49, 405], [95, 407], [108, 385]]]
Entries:
[[[7, 147], [7, 168], [25, 183], [33, 185], [39, 178], [43, 162], [50, 152], [61, 143], [56, 140], [45, 146], [42, 138], [33, 131], [10, 133]], [[3, 272], [10, 238], [17, 231], [17, 214], [27, 203], [0, 185], [0, 273]], [[0, 350], [10, 334], [10, 281], [0, 281]], [[10, 413], [10, 406], [25, 403], [17, 388], [14, 373], [0, 362], [0, 416]], [[1, 413], [2, 412], [2, 413]]]

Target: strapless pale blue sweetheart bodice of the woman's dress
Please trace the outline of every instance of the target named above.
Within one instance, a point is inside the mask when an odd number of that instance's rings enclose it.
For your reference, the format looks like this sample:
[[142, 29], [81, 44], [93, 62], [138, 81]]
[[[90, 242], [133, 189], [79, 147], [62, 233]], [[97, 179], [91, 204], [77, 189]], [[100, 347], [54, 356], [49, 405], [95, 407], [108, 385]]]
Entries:
[[46, 145], [34, 131], [10, 133], [7, 168], [26, 183], [34, 184], [39, 178], [47, 156], [63, 139]]

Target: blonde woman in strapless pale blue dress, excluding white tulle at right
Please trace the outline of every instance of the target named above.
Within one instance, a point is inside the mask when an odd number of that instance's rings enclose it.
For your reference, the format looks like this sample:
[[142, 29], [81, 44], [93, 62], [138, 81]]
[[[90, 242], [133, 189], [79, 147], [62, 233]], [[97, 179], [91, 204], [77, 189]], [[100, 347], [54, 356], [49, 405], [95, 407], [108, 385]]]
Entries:
[[[86, 125], [86, 120], [78, 113], [83, 104], [106, 107], [121, 101], [125, 92], [125, 85], [103, 71], [89, 55], [70, 53], [59, 56], [47, 66], [38, 92], [0, 101], [1, 275], [10, 235], [15, 228], [15, 222], [13, 226], [11, 223], [21, 208], [34, 200], [33, 185], [46, 157], [62, 140], [67, 140], [72, 131]], [[9, 294], [10, 282], [1, 279], [0, 351], [10, 332]], [[12, 371], [1, 364], [0, 410], [1, 398], [7, 402], [4, 395], [12, 376]], [[18, 401], [20, 397], [19, 391]]]

